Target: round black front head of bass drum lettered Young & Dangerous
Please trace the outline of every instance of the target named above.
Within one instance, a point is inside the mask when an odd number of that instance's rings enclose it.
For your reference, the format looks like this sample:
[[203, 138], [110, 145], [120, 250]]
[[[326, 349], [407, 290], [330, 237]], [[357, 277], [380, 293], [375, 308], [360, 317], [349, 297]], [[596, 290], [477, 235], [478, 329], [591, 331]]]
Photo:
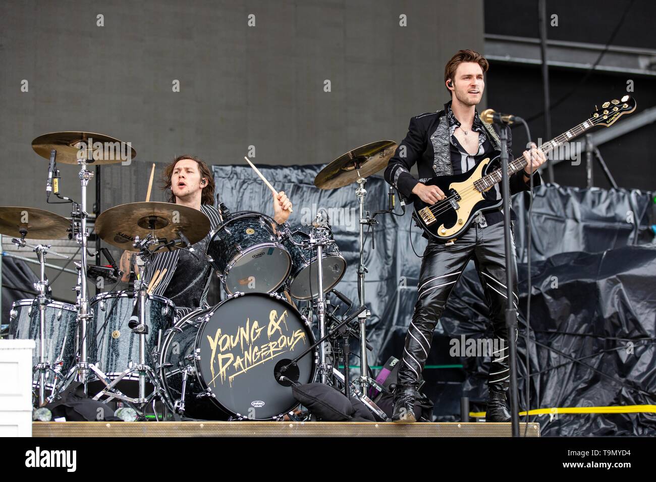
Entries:
[[[289, 382], [279, 384], [274, 367], [314, 343], [309, 323], [279, 295], [249, 293], [218, 304], [198, 332], [196, 373], [224, 410], [251, 420], [280, 418], [298, 405]], [[305, 384], [314, 380], [316, 351], [287, 372]], [[295, 372], [295, 376], [292, 376]]]

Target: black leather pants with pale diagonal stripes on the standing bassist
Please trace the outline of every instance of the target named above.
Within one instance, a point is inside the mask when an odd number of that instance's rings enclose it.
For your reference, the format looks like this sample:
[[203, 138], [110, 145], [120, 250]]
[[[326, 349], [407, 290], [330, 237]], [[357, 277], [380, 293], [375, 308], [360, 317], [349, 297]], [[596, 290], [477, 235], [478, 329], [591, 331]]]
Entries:
[[[479, 218], [480, 219], [480, 218]], [[481, 220], [485, 224], [484, 219]], [[508, 329], [506, 328], [506, 256], [503, 222], [481, 227], [476, 220], [452, 246], [429, 242], [424, 251], [415, 314], [405, 336], [405, 348], [398, 373], [398, 384], [419, 386], [424, 363], [430, 352], [435, 325], [449, 295], [470, 259], [474, 258], [485, 301], [490, 311], [493, 336], [499, 338], [487, 378], [488, 388], [505, 392], [510, 385]], [[514, 304], [517, 308], [517, 264], [512, 238]], [[515, 332], [517, 339], [517, 331]], [[502, 344], [501, 344], [502, 340]], [[501, 349], [501, 347], [504, 347]]]

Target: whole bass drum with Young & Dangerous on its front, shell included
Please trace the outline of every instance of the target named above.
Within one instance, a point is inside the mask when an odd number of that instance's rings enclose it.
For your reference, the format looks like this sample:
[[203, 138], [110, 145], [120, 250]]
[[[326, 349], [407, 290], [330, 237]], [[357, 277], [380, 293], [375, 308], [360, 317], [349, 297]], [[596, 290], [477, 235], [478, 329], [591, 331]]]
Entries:
[[[285, 298], [238, 293], [190, 313], [166, 333], [159, 378], [169, 404], [180, 407], [187, 374], [186, 417], [279, 420], [298, 402], [289, 384], [276, 381], [274, 367], [313, 343], [310, 323]], [[314, 381], [316, 351], [288, 373], [300, 383]]]

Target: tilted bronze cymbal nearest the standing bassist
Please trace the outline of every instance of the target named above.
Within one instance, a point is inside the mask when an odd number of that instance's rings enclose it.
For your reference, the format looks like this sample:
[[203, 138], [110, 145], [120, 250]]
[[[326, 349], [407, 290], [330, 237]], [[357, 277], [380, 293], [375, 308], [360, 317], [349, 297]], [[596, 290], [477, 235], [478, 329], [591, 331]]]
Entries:
[[387, 166], [396, 147], [393, 140], [379, 140], [348, 151], [321, 169], [314, 185], [319, 189], [335, 189], [371, 176]]

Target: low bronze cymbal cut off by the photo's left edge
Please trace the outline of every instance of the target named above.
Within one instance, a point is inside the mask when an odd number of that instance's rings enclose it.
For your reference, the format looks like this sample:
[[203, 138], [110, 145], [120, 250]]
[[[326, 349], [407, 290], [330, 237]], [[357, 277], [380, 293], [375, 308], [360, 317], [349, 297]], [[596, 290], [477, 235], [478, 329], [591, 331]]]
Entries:
[[54, 212], [35, 207], [0, 207], [0, 233], [20, 237], [22, 228], [28, 230], [26, 239], [60, 239], [68, 235], [71, 222]]

